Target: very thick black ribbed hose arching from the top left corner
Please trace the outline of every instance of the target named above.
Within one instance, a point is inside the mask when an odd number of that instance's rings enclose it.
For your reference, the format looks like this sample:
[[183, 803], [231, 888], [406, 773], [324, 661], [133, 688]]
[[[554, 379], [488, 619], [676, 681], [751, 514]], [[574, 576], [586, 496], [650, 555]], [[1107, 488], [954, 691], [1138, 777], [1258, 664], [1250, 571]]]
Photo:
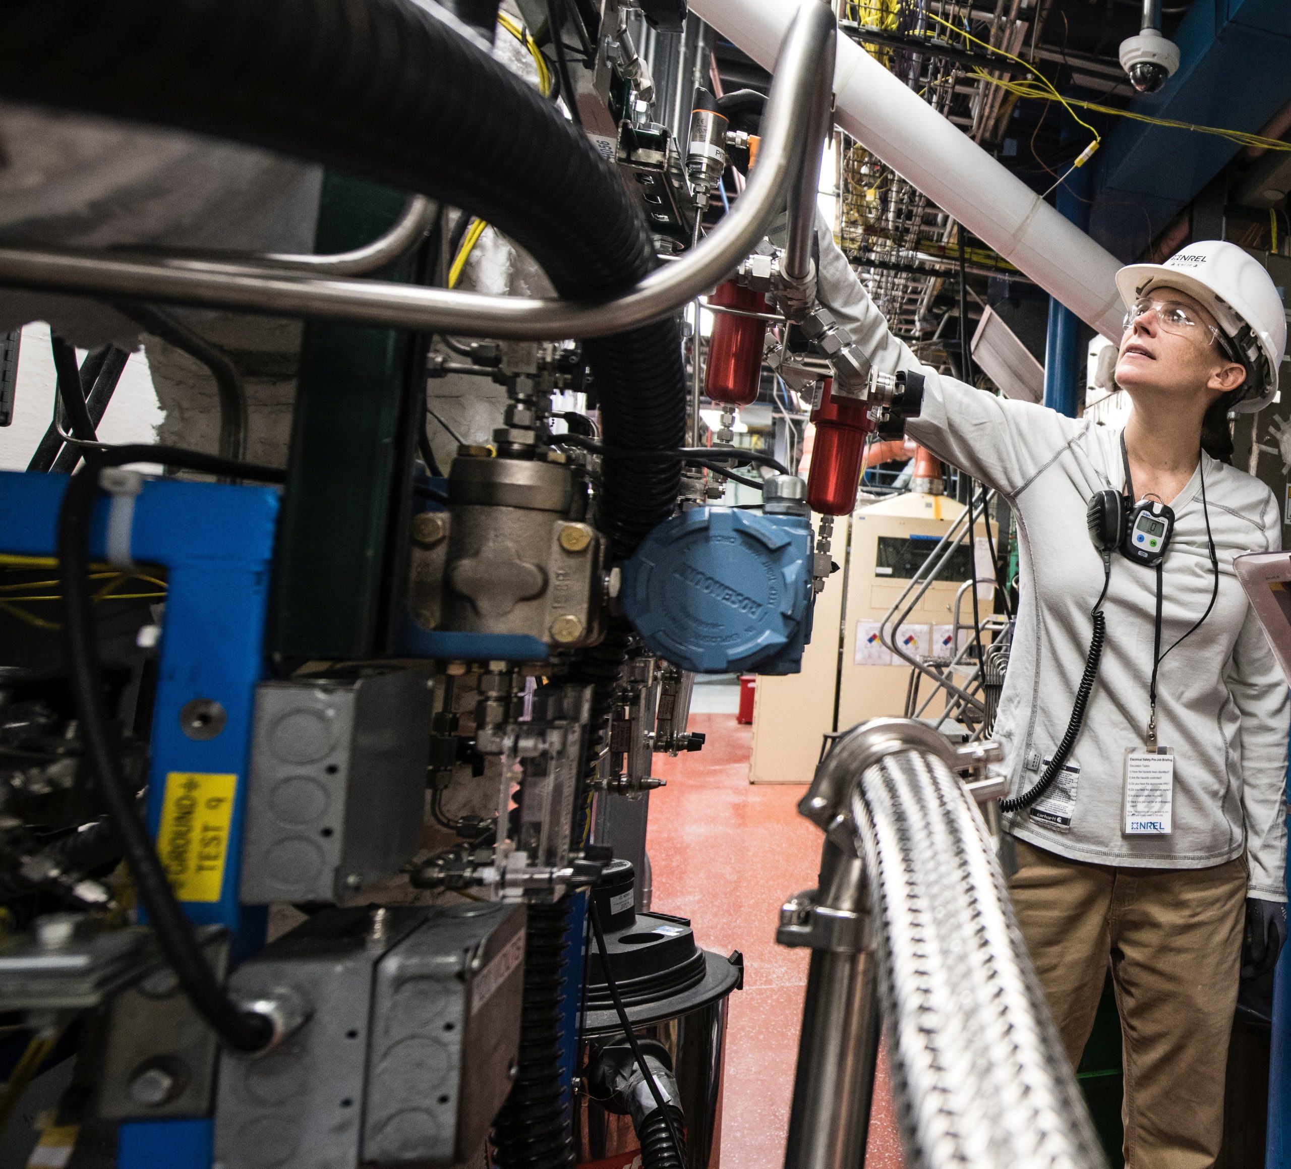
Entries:
[[[413, 0], [9, 0], [0, 94], [212, 134], [479, 216], [563, 297], [656, 265], [640, 204], [542, 96]], [[675, 318], [587, 341], [611, 447], [682, 446]], [[680, 462], [605, 468], [617, 555], [666, 519]]]

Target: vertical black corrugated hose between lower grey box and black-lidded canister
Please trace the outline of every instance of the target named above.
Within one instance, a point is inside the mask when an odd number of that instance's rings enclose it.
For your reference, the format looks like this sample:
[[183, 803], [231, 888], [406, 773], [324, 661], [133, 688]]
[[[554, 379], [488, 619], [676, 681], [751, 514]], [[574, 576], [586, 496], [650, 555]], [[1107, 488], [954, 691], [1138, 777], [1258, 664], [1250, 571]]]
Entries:
[[493, 1122], [497, 1169], [572, 1169], [574, 1164], [560, 1076], [560, 978], [568, 924], [568, 898], [528, 907], [520, 1055], [515, 1084]]

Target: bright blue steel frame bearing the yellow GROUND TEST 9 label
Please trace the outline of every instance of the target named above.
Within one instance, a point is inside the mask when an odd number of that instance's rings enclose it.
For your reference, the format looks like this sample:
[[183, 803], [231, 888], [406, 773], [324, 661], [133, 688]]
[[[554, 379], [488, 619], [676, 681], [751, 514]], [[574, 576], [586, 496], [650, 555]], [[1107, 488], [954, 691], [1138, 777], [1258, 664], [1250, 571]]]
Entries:
[[[0, 471], [0, 552], [52, 557], [67, 477]], [[92, 555], [102, 559], [108, 500], [94, 510]], [[146, 481], [134, 508], [130, 555], [168, 570], [164, 634], [152, 714], [148, 828], [161, 819], [170, 771], [234, 774], [232, 823], [219, 900], [187, 902], [192, 921], [226, 926], [235, 958], [263, 943], [263, 907], [239, 903], [241, 820], [256, 683], [265, 677], [265, 617], [279, 496], [265, 487]], [[179, 712], [213, 699], [227, 713], [213, 739], [183, 734]], [[120, 1169], [209, 1169], [212, 1121], [123, 1124]]]

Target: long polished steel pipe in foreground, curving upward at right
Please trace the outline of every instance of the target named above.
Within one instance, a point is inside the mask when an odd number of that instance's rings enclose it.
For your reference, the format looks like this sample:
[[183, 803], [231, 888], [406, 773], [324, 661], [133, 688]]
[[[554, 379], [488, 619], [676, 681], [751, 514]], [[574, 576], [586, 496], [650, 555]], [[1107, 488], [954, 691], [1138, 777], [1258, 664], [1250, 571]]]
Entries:
[[26, 248], [0, 248], [0, 284], [456, 336], [544, 341], [624, 332], [666, 316], [726, 279], [784, 208], [802, 160], [799, 128], [816, 99], [820, 62], [833, 43], [834, 27], [834, 14], [822, 3], [804, 5], [794, 18], [771, 83], [758, 165], [731, 214], [692, 252], [675, 264], [661, 265], [605, 304], [325, 280], [205, 260], [158, 261], [121, 253]]

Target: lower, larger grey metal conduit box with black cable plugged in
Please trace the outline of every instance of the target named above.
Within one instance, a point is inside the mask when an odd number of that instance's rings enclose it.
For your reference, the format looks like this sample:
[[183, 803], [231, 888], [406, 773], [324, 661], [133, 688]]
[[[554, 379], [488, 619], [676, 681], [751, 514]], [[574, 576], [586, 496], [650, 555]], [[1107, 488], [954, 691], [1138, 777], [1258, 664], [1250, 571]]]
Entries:
[[309, 1018], [219, 1064], [222, 1169], [447, 1166], [511, 1089], [524, 907], [327, 909], [243, 964], [244, 1000], [290, 991]]

